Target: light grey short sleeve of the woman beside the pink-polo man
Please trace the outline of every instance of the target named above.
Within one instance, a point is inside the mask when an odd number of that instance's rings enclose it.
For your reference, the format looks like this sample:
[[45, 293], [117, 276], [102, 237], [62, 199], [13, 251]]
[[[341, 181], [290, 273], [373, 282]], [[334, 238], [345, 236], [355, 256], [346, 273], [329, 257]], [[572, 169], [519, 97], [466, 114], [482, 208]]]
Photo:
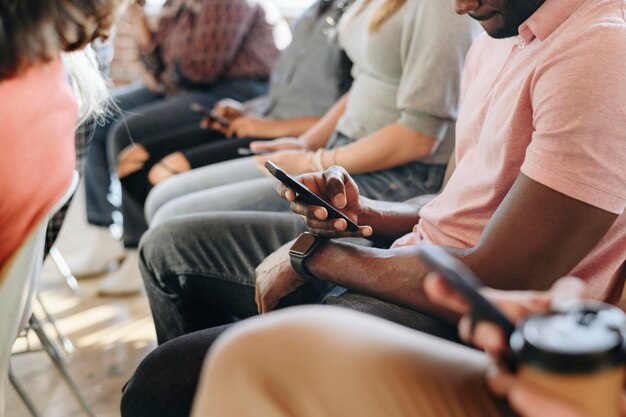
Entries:
[[442, 141], [456, 120], [465, 56], [482, 32], [449, 1], [408, 0], [402, 27], [398, 123]]

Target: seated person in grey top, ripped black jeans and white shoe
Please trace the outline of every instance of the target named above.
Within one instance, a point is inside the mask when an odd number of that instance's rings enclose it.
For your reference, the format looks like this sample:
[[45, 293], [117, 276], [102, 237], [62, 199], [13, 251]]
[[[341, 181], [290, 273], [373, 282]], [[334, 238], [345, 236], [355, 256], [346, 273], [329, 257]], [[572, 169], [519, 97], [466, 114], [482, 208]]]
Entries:
[[[193, 125], [161, 135], [135, 138], [135, 144], [127, 146], [126, 132], [117, 130], [118, 134], [112, 137], [112, 159], [117, 161], [118, 175], [124, 178], [124, 217], [143, 220], [144, 200], [152, 188], [155, 170], [161, 172], [157, 175], [174, 174], [171, 168], [176, 165], [171, 158], [160, 161], [160, 156], [176, 150], [180, 152], [173, 156], [184, 155], [194, 166], [203, 166], [241, 157], [239, 150], [247, 149], [250, 142], [259, 138], [298, 135], [314, 125], [352, 81], [350, 61], [340, 51], [334, 36], [337, 22], [348, 4], [343, 0], [322, 0], [303, 13], [294, 23], [292, 42], [272, 68], [267, 94], [245, 103], [228, 98], [215, 105], [214, 110], [221, 114], [228, 109], [225, 116], [231, 121], [231, 128], [236, 129], [233, 136], [237, 137], [226, 139], [228, 132]], [[141, 154], [151, 157], [138, 164]], [[141, 224], [135, 221], [124, 230], [124, 245], [130, 256], [123, 268], [109, 275], [108, 294], [131, 294], [141, 286], [134, 253], [145, 231]]]

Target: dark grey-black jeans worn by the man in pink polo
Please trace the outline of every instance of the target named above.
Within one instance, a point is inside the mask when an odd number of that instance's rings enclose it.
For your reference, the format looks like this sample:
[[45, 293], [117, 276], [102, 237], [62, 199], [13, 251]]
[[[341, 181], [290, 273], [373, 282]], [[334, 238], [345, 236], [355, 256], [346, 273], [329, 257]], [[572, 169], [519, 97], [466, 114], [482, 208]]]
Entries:
[[[160, 346], [125, 387], [123, 417], [189, 415], [213, 341], [232, 323], [257, 314], [256, 266], [303, 230], [296, 215], [232, 212], [172, 220], [144, 236], [140, 268]], [[322, 281], [310, 281], [279, 307], [315, 302], [457, 340], [456, 329], [435, 318]]]

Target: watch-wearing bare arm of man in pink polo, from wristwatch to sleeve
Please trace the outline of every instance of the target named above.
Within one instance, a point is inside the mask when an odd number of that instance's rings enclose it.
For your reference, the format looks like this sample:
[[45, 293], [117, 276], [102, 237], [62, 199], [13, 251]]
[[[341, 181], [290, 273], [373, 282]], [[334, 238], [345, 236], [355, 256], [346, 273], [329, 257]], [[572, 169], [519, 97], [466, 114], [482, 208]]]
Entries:
[[[452, 249], [498, 289], [549, 288], [600, 241], [617, 215], [520, 175], [473, 248]], [[428, 268], [416, 247], [373, 249], [329, 241], [307, 262], [313, 275], [410, 308], [441, 314], [425, 297]]]

